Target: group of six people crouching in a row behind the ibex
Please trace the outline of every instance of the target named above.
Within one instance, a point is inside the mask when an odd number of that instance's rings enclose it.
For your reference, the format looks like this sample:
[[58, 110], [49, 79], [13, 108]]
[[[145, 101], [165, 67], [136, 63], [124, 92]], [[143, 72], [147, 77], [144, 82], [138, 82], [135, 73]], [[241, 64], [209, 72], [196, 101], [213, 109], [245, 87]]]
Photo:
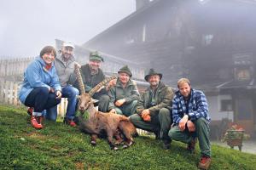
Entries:
[[[76, 64], [73, 56], [74, 45], [62, 44], [57, 55], [55, 48], [44, 47], [40, 55], [28, 65], [24, 82], [20, 88], [20, 101], [30, 109], [32, 127], [43, 128], [44, 118], [56, 121], [57, 105], [61, 98], [67, 98], [67, 114], [64, 122], [75, 127], [76, 105], [79, 82], [75, 77]], [[85, 92], [89, 92], [105, 79], [100, 68], [104, 59], [97, 52], [91, 52], [89, 63], [80, 65]], [[139, 94], [136, 82], [131, 80], [127, 65], [118, 71], [119, 77], [100, 88], [93, 99], [99, 100], [99, 111], [112, 112], [130, 117], [137, 128], [155, 134], [163, 141], [163, 148], [169, 149], [172, 140], [188, 144], [193, 153], [198, 139], [201, 161], [198, 167], [207, 168], [211, 163], [209, 140], [208, 105], [205, 94], [191, 88], [189, 79], [177, 81], [177, 92], [161, 82], [162, 74], [150, 69], [145, 76], [149, 83], [143, 94]]]

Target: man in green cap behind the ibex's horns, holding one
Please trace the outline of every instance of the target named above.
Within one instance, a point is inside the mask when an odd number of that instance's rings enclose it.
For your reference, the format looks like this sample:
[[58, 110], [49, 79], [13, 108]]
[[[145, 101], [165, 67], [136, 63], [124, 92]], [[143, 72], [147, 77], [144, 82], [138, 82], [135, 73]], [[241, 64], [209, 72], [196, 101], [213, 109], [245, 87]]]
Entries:
[[[89, 63], [81, 66], [81, 76], [84, 82], [85, 92], [88, 93], [90, 90], [105, 79], [105, 75], [100, 69], [100, 66], [104, 59], [98, 52], [91, 52], [89, 56]], [[108, 82], [108, 86], [100, 88], [96, 94], [92, 96], [93, 99], [99, 100], [98, 106], [99, 111], [107, 112], [109, 104], [108, 90], [116, 83], [116, 79]], [[73, 83], [75, 88], [79, 88], [79, 82]]]

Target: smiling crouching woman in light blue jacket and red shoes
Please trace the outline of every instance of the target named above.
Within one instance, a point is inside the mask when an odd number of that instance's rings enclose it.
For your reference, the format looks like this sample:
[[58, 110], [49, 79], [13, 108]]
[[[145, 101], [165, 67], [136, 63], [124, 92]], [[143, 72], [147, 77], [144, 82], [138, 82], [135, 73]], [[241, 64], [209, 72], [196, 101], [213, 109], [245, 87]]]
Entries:
[[42, 111], [61, 102], [61, 84], [53, 65], [55, 56], [55, 48], [44, 47], [24, 73], [19, 99], [24, 105], [34, 108], [31, 124], [35, 128], [43, 128]]

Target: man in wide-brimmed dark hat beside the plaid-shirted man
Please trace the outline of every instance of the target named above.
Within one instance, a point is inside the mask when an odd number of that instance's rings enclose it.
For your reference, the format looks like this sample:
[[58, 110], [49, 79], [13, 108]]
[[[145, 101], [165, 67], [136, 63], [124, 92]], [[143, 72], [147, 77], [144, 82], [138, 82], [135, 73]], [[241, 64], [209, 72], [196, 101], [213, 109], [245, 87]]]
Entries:
[[135, 127], [142, 128], [156, 134], [156, 138], [163, 140], [163, 148], [170, 148], [171, 139], [168, 131], [172, 124], [172, 88], [160, 82], [162, 74], [150, 69], [145, 80], [150, 86], [142, 94], [137, 103], [137, 114], [130, 116]]

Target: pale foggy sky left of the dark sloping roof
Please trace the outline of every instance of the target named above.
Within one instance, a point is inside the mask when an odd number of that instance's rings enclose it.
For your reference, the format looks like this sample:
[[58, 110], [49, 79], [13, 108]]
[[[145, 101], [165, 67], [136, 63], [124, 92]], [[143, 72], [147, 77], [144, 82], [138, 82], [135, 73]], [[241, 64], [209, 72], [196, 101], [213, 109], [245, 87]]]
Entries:
[[135, 0], [0, 0], [0, 58], [38, 55], [56, 38], [82, 44], [135, 8]]

